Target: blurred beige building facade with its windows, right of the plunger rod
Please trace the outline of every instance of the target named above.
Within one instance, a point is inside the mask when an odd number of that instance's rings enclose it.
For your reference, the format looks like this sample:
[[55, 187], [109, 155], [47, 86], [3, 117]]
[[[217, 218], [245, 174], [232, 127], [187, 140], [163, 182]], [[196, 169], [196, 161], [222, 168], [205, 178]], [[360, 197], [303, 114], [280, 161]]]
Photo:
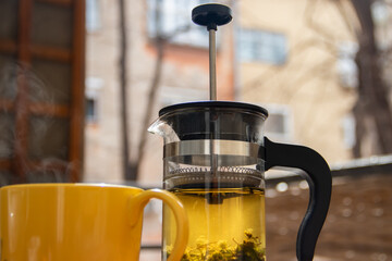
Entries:
[[269, 110], [271, 139], [314, 148], [330, 163], [350, 160], [357, 45], [340, 7], [306, 0], [238, 5], [241, 99]]

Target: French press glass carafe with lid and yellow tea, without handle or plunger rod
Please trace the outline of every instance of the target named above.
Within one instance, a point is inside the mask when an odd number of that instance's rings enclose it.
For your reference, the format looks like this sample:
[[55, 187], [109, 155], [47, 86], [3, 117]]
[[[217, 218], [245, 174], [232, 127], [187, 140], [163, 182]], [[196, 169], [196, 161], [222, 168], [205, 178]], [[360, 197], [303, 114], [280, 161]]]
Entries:
[[[183, 260], [265, 260], [264, 173], [284, 165], [275, 160], [282, 149], [264, 137], [268, 112], [248, 103], [205, 101], [167, 107], [159, 115], [149, 130], [164, 139], [163, 186], [181, 199], [189, 217]], [[266, 142], [271, 164], [266, 164]], [[164, 208], [163, 260], [175, 229], [174, 216]]]

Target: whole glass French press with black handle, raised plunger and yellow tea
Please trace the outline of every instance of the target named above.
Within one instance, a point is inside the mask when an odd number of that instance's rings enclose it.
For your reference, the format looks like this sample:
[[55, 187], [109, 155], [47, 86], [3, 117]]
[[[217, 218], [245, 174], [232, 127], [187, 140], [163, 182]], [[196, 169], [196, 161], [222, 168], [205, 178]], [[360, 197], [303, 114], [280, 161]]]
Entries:
[[[310, 261], [323, 225], [331, 173], [316, 151], [275, 144], [264, 136], [268, 116], [261, 107], [216, 100], [215, 33], [232, 20], [221, 4], [192, 13], [210, 35], [210, 101], [169, 105], [149, 132], [164, 139], [163, 186], [177, 196], [189, 219], [189, 240], [182, 261], [265, 261], [265, 171], [297, 167], [306, 173], [310, 197], [299, 227], [297, 259]], [[175, 240], [175, 220], [163, 208], [163, 260]]]

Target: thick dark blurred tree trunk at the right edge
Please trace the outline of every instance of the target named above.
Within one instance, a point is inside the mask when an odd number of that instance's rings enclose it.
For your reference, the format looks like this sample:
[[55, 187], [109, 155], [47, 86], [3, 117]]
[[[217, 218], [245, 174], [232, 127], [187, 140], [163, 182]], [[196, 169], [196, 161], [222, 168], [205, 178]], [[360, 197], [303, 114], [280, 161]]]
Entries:
[[[371, 0], [352, 0], [352, 3], [362, 26], [356, 55], [359, 85], [358, 99], [353, 109], [357, 124], [353, 154], [359, 158], [392, 153], [392, 111], [379, 65], [380, 52], [375, 39]], [[371, 138], [372, 135], [375, 138]], [[373, 139], [373, 151], [369, 151], [369, 154], [364, 154], [369, 149], [364, 148], [365, 139]]]

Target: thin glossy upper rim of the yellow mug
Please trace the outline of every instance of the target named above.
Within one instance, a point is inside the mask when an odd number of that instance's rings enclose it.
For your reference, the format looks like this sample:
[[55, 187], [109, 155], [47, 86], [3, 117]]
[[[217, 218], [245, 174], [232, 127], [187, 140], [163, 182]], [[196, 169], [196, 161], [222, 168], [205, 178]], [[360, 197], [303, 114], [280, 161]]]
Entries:
[[125, 186], [125, 185], [117, 185], [117, 184], [108, 184], [108, 183], [26, 183], [26, 184], [13, 184], [0, 187], [0, 190], [13, 189], [13, 188], [49, 188], [49, 187], [85, 187], [85, 188], [125, 188], [143, 191], [143, 188]]

